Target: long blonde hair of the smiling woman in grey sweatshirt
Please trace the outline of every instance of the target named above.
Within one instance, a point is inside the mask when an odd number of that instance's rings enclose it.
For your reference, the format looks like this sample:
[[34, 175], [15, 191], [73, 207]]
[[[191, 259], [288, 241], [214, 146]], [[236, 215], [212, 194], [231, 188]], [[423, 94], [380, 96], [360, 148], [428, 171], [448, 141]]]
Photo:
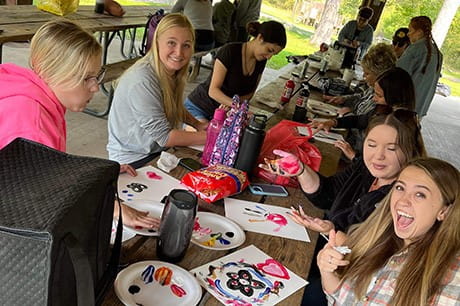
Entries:
[[189, 63], [187, 62], [184, 67], [171, 76], [167, 73], [165, 65], [161, 62], [158, 50], [158, 38], [164, 32], [174, 27], [185, 28], [190, 31], [193, 48], [195, 44], [195, 31], [190, 20], [185, 15], [179, 13], [168, 14], [158, 24], [153, 35], [152, 48], [150, 48], [143, 61], [147, 61], [152, 65], [160, 80], [166, 118], [172, 128], [179, 128], [180, 124], [184, 122], [187, 113], [184, 107], [183, 95]]

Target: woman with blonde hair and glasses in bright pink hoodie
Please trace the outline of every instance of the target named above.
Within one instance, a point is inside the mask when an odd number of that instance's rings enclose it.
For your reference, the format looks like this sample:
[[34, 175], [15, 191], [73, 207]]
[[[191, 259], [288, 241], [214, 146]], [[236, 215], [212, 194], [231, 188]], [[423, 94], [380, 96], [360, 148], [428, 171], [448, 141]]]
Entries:
[[[81, 112], [104, 77], [101, 45], [67, 20], [45, 23], [32, 38], [29, 64], [0, 65], [0, 149], [17, 137], [65, 152], [65, 112]], [[121, 172], [136, 171], [121, 165]], [[114, 209], [118, 216], [118, 209]], [[154, 227], [157, 220], [122, 205], [123, 223]]]

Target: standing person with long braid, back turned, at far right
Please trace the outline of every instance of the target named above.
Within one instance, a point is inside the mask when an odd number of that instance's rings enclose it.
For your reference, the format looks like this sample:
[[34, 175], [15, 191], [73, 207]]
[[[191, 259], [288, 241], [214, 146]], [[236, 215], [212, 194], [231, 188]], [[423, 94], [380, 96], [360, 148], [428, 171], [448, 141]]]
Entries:
[[411, 45], [396, 62], [396, 66], [406, 70], [414, 81], [415, 111], [420, 118], [430, 108], [442, 67], [442, 53], [433, 40], [431, 26], [427, 16], [411, 19], [407, 33]]

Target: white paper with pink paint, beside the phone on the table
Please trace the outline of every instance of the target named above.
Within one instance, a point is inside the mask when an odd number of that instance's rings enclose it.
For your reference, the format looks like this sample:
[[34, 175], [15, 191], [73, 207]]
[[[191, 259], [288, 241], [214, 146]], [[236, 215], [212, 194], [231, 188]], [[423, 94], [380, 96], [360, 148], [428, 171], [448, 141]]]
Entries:
[[310, 242], [307, 230], [291, 220], [285, 207], [225, 199], [225, 216], [244, 230]]

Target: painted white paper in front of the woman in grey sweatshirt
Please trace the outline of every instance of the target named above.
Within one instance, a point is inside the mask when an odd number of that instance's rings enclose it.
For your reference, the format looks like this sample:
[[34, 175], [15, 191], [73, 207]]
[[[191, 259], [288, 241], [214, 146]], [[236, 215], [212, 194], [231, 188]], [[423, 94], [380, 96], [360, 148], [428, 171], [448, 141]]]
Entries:
[[186, 189], [178, 180], [153, 166], [137, 169], [137, 176], [123, 173], [118, 178], [118, 194], [124, 201], [161, 201], [172, 189]]

